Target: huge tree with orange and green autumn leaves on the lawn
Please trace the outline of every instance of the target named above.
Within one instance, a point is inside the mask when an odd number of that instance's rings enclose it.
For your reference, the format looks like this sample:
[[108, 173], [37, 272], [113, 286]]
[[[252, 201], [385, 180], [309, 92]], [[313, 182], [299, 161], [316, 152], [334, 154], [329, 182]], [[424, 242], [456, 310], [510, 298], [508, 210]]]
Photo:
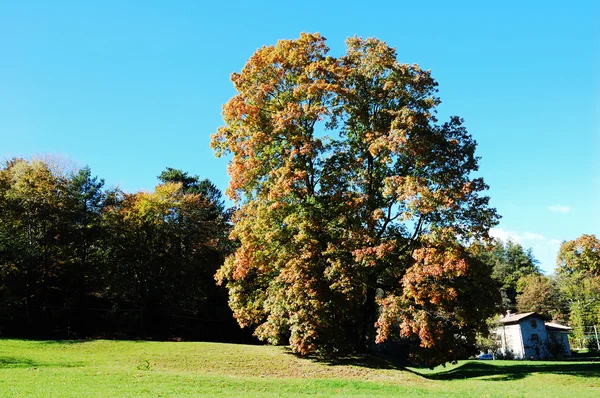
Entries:
[[[497, 222], [476, 143], [435, 117], [437, 83], [377, 39], [345, 55], [302, 34], [259, 49], [213, 136], [233, 155], [240, 246], [219, 270], [258, 337], [340, 354], [400, 335], [431, 363], [465, 354], [495, 295], [461, 243]], [[396, 332], [394, 332], [396, 331]]]

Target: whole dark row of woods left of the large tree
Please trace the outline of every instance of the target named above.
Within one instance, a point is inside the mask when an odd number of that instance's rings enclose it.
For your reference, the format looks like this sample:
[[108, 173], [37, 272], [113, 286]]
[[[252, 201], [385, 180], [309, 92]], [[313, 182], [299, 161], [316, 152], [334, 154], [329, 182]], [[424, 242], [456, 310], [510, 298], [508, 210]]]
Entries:
[[244, 340], [214, 274], [230, 214], [208, 180], [172, 168], [152, 192], [85, 167], [0, 169], [0, 333]]

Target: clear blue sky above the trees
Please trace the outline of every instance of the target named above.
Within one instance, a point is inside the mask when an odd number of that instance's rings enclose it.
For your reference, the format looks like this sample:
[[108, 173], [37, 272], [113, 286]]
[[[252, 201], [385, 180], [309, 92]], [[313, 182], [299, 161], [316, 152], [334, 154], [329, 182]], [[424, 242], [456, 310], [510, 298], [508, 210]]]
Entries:
[[376, 36], [432, 70], [440, 116], [464, 117], [479, 143], [494, 233], [552, 271], [560, 241], [600, 235], [597, 4], [0, 2], [0, 157], [60, 154], [127, 191], [170, 166], [224, 190], [209, 140], [229, 74], [302, 31], [334, 55]]

